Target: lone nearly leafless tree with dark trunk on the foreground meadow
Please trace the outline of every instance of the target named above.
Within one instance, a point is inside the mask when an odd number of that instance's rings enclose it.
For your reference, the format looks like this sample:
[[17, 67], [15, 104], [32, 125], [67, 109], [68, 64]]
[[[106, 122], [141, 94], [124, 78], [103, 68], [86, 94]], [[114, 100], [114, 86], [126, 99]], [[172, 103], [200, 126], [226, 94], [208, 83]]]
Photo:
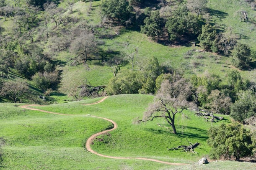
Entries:
[[173, 75], [171, 80], [163, 81], [154, 102], [147, 108], [140, 121], [146, 122], [155, 118], [163, 118], [176, 134], [175, 116], [191, 106], [188, 101], [190, 95], [191, 84], [181, 76]]

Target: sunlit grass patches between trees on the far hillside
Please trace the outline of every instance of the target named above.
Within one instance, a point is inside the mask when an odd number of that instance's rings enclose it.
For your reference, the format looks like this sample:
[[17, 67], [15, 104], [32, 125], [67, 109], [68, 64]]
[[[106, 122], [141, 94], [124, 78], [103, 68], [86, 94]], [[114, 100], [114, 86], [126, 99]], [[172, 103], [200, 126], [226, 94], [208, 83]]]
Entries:
[[[7, 1], [9, 2], [9, 1]], [[10, 1], [9, 3], [13, 3]], [[177, 2], [175, 2], [177, 3]], [[67, 10], [67, 0], [59, 2], [58, 6], [65, 8], [63, 15], [78, 18], [78, 23], [71, 25], [78, 25], [80, 20], [85, 19], [88, 25], [101, 25], [100, 18], [100, 5], [101, 1], [93, 1], [92, 6], [90, 3], [77, 2], [72, 6], [73, 13], [69, 14]], [[177, 3], [178, 5], [178, 3]], [[223, 33], [235, 36], [238, 42], [246, 43], [252, 50], [256, 50], [254, 44], [256, 44], [256, 31], [255, 23], [241, 22], [240, 11], [246, 11], [250, 21], [256, 20], [256, 12], [252, 10], [250, 5], [244, 0], [211, 0], [207, 3], [207, 11], [209, 13], [209, 20], [215, 23], [217, 27], [222, 30]], [[3, 36], [9, 36], [13, 30], [13, 17], [7, 18], [6, 21], [3, 18], [0, 20], [1, 27], [4, 28]], [[216, 53], [200, 53], [194, 51], [192, 55], [186, 56], [186, 53], [193, 49], [200, 50], [199, 44], [193, 47], [191, 44], [184, 44], [179, 46], [173, 46], [171, 44], [156, 43], [148, 38], [145, 34], [138, 31], [127, 29], [124, 27], [115, 27], [112, 25], [104, 25], [104, 28], [97, 28], [96, 34], [101, 32], [103, 35], [109, 35], [111, 38], [103, 38], [103, 48], [112, 49], [120, 52], [127, 52], [127, 43], [129, 48], [137, 48], [139, 58], [151, 58], [156, 57], [160, 64], [168, 63], [173, 69], [180, 71], [186, 78], [189, 78], [191, 74], [202, 75], [205, 72], [210, 74], [217, 74], [222, 79], [223, 84], [226, 83], [227, 72], [231, 69], [235, 69], [232, 63], [232, 57], [225, 57], [217, 55]], [[45, 33], [40, 31], [43, 28], [34, 29], [34, 41], [44, 49], [45, 53], [49, 53], [52, 46], [52, 40], [45, 40], [42, 36]], [[49, 30], [53, 30], [58, 33], [58, 30], [54, 28], [54, 23], [49, 25]], [[118, 32], [119, 35], [115, 35]], [[59, 89], [52, 95], [54, 102], [64, 102], [66, 100], [73, 100], [74, 93], [78, 93], [80, 89], [78, 86], [84, 84], [86, 81], [90, 82], [93, 86], [107, 85], [109, 80], [113, 77], [112, 68], [107, 65], [98, 64], [98, 61], [89, 62], [90, 70], [87, 70], [82, 65], [70, 66], [70, 58], [74, 57], [74, 54], [67, 51], [60, 51], [54, 53], [53, 58], [63, 62], [58, 66], [58, 70], [62, 70], [61, 83]], [[253, 58], [253, 61], [256, 61]], [[127, 72], [131, 66], [127, 64], [122, 66], [119, 73]], [[136, 69], [136, 67], [135, 67]], [[137, 68], [138, 69], [138, 68]], [[252, 71], [240, 71], [243, 78], [255, 80], [255, 70]], [[13, 73], [16, 73], [13, 70]], [[18, 75], [13, 75], [13, 78], [18, 80]], [[1, 78], [2, 79], [2, 78]], [[8, 79], [2, 79], [2, 81], [8, 81]], [[31, 84], [30, 94], [34, 94], [32, 100], [29, 101], [25, 97], [21, 102], [41, 102], [36, 97], [42, 94], [43, 91], [38, 90], [33, 83], [26, 80], [28, 84]], [[36, 91], [35, 91], [36, 90]], [[5, 100], [4, 100], [5, 101]]]

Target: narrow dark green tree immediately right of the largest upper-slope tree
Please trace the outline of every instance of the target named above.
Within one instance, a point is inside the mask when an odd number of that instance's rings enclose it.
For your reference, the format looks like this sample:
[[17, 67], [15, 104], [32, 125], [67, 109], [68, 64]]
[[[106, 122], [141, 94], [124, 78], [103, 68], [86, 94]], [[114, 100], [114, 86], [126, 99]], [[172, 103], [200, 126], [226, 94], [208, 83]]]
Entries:
[[[198, 36], [200, 41], [200, 46], [204, 48], [205, 51], [211, 51], [215, 46], [215, 38], [217, 36], [216, 29], [213, 28], [211, 24], [206, 24], [202, 26], [202, 33]], [[214, 51], [216, 52], [216, 51]]]

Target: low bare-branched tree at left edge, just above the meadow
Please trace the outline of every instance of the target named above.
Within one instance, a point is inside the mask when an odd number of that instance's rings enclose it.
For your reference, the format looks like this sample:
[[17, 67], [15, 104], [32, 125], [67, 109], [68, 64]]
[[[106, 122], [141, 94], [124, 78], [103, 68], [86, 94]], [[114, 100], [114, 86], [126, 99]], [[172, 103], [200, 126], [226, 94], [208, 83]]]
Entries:
[[15, 103], [18, 98], [28, 91], [28, 85], [20, 81], [8, 81], [3, 84], [0, 95], [8, 96]]

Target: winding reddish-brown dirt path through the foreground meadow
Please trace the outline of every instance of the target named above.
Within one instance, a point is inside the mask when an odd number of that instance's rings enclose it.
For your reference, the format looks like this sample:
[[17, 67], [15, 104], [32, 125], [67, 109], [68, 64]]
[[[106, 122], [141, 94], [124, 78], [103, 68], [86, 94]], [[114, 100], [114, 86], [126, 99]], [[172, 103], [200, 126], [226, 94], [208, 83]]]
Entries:
[[[83, 104], [83, 105], [88, 106], [88, 105], [98, 104], [98, 103], [101, 103], [102, 101], [104, 101], [107, 97], [108, 96], [104, 97], [103, 99], [101, 99], [100, 101], [97, 101], [95, 103]], [[23, 106], [20, 106], [20, 107], [24, 108], [24, 109], [46, 112], [46, 113], [50, 113], [50, 114], [58, 114], [58, 115], [64, 115], [64, 116], [78, 116], [77, 114], [62, 114], [62, 113], [49, 112], [49, 111], [46, 111], [46, 110], [31, 108], [31, 106], [43, 106], [43, 105], [28, 104], [28, 105], [23, 105]], [[104, 130], [102, 132], [98, 132], [98, 133], [93, 134], [91, 137], [88, 138], [88, 140], [86, 141], [86, 149], [89, 152], [93, 153], [93, 154], [96, 154], [96, 155], [101, 156], [101, 157], [108, 157], [108, 158], [111, 158], [111, 159], [137, 159], [137, 160], [150, 160], [150, 161], [153, 161], [153, 162], [159, 162], [159, 163], [163, 163], [163, 164], [167, 164], [167, 165], [189, 165], [189, 164], [186, 164], [186, 163], [171, 163], [171, 162], [165, 162], [165, 161], [155, 160], [155, 159], [150, 159], [150, 158], [145, 158], [145, 157], [113, 157], [113, 156], [102, 155], [102, 154], [92, 150], [91, 149], [91, 144], [93, 143], [93, 140], [95, 140], [97, 136], [99, 136], [101, 134], [106, 134], [107, 132], [110, 132], [110, 131], [116, 129], [117, 124], [113, 120], [107, 119], [105, 117], [98, 117], [98, 116], [92, 116], [92, 115], [90, 115], [90, 116], [91, 117], [96, 117], [96, 118], [99, 118], [99, 119], [104, 119], [104, 120], [109, 121], [112, 124], [114, 124], [114, 127], [112, 129], [108, 129], [108, 130]]]

